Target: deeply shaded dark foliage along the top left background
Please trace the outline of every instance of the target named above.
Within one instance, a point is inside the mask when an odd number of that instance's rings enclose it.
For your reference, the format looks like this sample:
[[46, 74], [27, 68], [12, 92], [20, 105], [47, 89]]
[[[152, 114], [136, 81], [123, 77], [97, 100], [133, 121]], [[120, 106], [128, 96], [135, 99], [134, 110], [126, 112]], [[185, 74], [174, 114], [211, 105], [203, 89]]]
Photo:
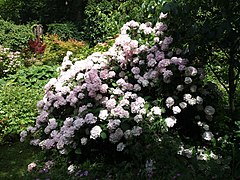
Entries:
[[81, 24], [87, 0], [5, 0], [0, 16], [17, 24], [37, 21], [42, 24], [72, 21]]

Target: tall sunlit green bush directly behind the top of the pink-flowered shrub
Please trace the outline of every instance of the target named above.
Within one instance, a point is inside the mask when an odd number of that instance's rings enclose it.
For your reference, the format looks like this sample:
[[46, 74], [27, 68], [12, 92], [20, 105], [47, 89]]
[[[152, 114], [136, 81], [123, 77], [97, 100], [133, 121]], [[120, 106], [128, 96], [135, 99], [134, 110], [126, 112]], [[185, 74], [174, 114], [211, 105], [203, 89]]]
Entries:
[[89, 0], [85, 8], [83, 38], [91, 44], [115, 36], [122, 25], [132, 19], [156, 23], [164, 1], [158, 0]]

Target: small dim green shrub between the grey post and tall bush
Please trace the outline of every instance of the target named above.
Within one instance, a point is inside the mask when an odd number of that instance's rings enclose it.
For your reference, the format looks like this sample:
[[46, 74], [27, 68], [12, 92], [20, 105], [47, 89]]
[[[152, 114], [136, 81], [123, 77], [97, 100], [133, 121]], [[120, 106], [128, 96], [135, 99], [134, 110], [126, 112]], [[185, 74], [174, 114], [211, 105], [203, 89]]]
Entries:
[[67, 41], [70, 38], [79, 39], [78, 29], [71, 22], [48, 24], [47, 27], [47, 33], [57, 34], [63, 41]]

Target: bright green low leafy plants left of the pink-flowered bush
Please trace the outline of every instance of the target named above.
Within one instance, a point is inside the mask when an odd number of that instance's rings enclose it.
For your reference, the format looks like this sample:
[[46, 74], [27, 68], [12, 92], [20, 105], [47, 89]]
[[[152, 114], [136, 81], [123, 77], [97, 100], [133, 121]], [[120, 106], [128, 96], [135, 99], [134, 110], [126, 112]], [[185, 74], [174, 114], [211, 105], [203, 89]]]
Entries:
[[15, 141], [19, 132], [34, 122], [42, 87], [56, 76], [56, 66], [31, 66], [1, 78], [0, 143]]

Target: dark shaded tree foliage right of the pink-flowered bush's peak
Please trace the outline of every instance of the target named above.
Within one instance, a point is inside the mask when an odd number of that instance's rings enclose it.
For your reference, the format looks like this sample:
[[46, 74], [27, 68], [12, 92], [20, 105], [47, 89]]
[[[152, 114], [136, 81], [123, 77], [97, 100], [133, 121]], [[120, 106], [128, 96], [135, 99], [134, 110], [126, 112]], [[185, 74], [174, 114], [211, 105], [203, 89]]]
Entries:
[[175, 45], [212, 74], [228, 94], [229, 113], [235, 110], [240, 75], [240, 3], [234, 0], [172, 1], [165, 4]]

